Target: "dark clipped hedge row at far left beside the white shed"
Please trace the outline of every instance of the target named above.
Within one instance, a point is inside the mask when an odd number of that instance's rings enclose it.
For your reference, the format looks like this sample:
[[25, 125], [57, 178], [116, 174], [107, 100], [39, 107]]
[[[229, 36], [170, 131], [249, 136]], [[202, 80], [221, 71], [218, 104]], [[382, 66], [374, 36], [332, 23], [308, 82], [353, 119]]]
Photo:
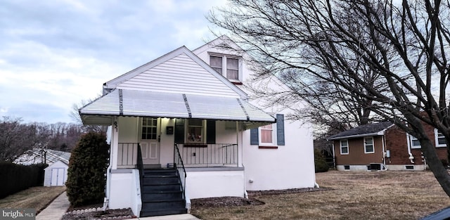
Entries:
[[0, 198], [32, 186], [44, 186], [44, 168], [47, 164], [19, 165], [0, 162]]

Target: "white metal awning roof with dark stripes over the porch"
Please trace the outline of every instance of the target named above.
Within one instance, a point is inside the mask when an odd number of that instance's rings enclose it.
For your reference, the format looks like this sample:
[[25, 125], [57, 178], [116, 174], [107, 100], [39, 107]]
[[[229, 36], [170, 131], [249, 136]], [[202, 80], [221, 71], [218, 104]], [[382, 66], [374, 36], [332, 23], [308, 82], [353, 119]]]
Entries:
[[217, 119], [245, 129], [276, 119], [241, 98], [115, 89], [79, 109], [84, 124], [110, 125], [114, 116]]

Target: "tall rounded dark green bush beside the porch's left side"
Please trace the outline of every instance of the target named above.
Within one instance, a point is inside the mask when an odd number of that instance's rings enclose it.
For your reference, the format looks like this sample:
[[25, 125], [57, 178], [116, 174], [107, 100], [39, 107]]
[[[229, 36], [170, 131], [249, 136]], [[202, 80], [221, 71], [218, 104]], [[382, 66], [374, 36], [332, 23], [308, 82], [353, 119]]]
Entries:
[[103, 133], [84, 134], [70, 156], [67, 195], [74, 207], [102, 203], [109, 145]]

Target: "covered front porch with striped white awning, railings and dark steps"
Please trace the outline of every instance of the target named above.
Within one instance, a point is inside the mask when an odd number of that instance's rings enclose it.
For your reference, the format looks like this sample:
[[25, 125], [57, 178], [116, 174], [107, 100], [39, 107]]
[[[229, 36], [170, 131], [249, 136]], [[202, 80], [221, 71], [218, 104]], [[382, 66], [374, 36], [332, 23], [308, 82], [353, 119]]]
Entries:
[[105, 201], [135, 213], [158, 209], [150, 207], [158, 202], [150, 201], [154, 193], [146, 189], [160, 183], [150, 180], [154, 170], [148, 169], [176, 170], [174, 183], [186, 208], [193, 198], [245, 196], [243, 131], [276, 122], [237, 97], [125, 89], [79, 112], [84, 124], [110, 127]]

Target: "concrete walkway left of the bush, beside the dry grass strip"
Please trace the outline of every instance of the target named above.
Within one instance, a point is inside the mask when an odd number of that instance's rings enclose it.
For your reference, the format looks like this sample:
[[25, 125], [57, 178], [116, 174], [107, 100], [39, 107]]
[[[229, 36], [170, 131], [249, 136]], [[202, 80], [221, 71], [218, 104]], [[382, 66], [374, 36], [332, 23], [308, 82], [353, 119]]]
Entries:
[[62, 193], [53, 202], [50, 203], [42, 212], [36, 216], [36, 220], [60, 220], [61, 217], [68, 211], [70, 202], [68, 195]]

